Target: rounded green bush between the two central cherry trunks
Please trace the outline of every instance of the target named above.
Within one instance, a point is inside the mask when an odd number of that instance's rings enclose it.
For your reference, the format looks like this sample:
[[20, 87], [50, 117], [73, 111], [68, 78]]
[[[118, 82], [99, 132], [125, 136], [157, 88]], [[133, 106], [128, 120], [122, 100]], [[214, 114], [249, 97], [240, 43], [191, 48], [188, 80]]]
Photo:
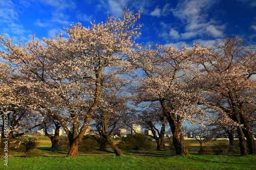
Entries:
[[117, 147], [123, 150], [154, 150], [156, 143], [151, 137], [138, 133], [122, 138]]

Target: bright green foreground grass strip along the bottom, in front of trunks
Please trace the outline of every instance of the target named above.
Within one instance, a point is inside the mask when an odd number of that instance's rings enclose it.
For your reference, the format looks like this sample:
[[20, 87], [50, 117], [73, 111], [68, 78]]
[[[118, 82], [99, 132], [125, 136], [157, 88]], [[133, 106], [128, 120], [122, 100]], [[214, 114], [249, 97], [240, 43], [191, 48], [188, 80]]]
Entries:
[[10, 157], [0, 169], [256, 169], [255, 160], [251, 155]]

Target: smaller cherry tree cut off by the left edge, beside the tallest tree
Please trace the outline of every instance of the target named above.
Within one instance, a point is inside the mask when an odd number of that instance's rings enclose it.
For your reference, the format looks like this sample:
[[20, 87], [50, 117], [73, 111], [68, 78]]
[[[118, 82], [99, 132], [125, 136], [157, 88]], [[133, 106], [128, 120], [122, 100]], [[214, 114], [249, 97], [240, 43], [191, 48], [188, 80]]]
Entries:
[[[22, 99], [28, 89], [10, 63], [0, 62], [0, 115], [3, 125], [2, 140], [22, 136], [41, 125], [40, 114], [30, 110]], [[23, 79], [23, 81], [26, 78]]]

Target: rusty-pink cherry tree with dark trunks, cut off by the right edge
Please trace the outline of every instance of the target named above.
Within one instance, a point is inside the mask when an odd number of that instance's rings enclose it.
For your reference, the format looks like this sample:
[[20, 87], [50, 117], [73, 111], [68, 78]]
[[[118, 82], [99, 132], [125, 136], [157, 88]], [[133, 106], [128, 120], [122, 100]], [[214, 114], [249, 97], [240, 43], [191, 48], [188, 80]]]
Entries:
[[209, 51], [195, 59], [201, 68], [199, 84], [205, 89], [203, 104], [217, 111], [223, 124], [237, 127], [242, 155], [247, 155], [246, 142], [249, 154], [255, 154], [250, 127], [255, 121], [255, 50], [249, 50], [243, 40], [229, 37]]

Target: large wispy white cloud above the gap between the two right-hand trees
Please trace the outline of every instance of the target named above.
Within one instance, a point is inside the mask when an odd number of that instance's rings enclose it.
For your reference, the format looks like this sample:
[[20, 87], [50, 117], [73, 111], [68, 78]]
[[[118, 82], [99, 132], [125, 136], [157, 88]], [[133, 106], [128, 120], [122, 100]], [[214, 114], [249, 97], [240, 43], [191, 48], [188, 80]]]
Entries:
[[180, 1], [176, 8], [172, 8], [173, 15], [179, 19], [181, 25], [184, 25], [184, 32], [180, 34], [182, 39], [203, 35], [223, 36], [225, 23], [220, 25], [218, 21], [208, 16], [208, 10], [216, 2], [218, 1], [186, 0]]

